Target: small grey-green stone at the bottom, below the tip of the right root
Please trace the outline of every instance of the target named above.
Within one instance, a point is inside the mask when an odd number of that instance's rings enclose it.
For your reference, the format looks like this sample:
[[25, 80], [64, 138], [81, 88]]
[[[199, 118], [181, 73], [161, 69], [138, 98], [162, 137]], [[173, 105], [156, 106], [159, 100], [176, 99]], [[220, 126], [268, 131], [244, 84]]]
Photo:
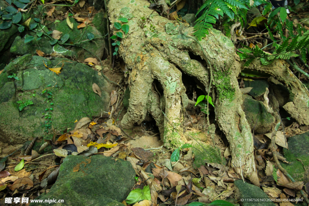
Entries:
[[268, 195], [263, 190], [255, 185], [243, 182], [243, 180], [234, 181], [235, 197], [240, 201], [242, 206], [275, 206], [272, 201], [245, 201], [246, 199], [269, 199]]

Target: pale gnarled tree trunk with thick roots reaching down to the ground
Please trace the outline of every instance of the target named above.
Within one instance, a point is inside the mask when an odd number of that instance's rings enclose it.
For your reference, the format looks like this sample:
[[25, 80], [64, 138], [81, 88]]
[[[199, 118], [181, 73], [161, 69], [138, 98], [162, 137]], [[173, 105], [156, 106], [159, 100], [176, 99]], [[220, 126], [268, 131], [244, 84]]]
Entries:
[[[194, 38], [193, 27], [180, 25], [157, 12], [151, 14], [148, 6], [145, 0], [110, 0], [108, 4], [114, 34], [118, 30], [113, 25], [120, 22], [117, 19], [121, 17], [129, 19], [130, 27], [119, 47], [119, 54], [129, 68], [131, 90], [122, 127], [140, 124], [149, 112], [159, 126], [165, 146], [184, 144], [183, 108], [188, 105], [188, 97], [181, 71], [197, 78], [206, 95], [212, 79], [213, 97], [216, 94], [215, 116], [230, 143], [231, 166], [258, 184], [251, 128], [241, 107], [242, 94], [236, 78], [242, 62], [233, 43], [218, 30], [211, 29], [200, 42], [203, 52], [195, 40], [186, 37]], [[147, 21], [143, 22], [142, 18]], [[181, 27], [185, 35], [180, 32]], [[203, 61], [196, 60], [200, 58]], [[254, 65], [255, 69], [262, 68], [258, 63]], [[154, 86], [155, 79], [163, 87], [163, 95]]]

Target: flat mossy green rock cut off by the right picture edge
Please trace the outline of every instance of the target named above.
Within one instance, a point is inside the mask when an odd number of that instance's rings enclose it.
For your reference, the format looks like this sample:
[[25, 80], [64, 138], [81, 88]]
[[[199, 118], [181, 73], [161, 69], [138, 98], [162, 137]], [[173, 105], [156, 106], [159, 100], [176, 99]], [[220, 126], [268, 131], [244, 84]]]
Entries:
[[283, 148], [283, 156], [288, 163], [281, 166], [296, 180], [309, 182], [309, 132], [288, 139], [289, 149]]

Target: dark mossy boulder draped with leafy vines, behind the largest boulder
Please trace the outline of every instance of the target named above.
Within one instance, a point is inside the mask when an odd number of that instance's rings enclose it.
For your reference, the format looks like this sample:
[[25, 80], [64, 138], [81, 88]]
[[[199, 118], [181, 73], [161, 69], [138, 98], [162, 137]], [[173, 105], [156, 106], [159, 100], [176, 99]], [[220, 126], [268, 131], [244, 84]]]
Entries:
[[[88, 57], [92, 58], [102, 58], [104, 53], [105, 41], [102, 37], [101, 32], [99, 32], [95, 27], [88, 26], [78, 29], [78, 23], [74, 18], [70, 18], [70, 22], [73, 23], [73, 29], [71, 29], [66, 20], [63, 20], [57, 24], [51, 24], [50, 30], [57, 30], [62, 32], [61, 37], [65, 34], [69, 34], [70, 37], [66, 42], [59, 42], [71, 44], [70, 48], [65, 48], [67, 45], [60, 45], [58, 43], [51, 45], [48, 36], [42, 35], [41, 39], [36, 35], [36, 32], [28, 31], [27, 34], [34, 37], [34, 40], [25, 43], [25, 36], [17, 36], [11, 46], [10, 52], [16, 55], [25, 55], [30, 53], [32, 55], [36, 54], [36, 50], [41, 50], [46, 54], [58, 53], [66, 57], [76, 57], [78, 60], [83, 61]], [[40, 28], [38, 28], [40, 30]], [[47, 27], [44, 27], [45, 32], [48, 32]], [[89, 41], [88, 38], [91, 34], [94, 39]]]

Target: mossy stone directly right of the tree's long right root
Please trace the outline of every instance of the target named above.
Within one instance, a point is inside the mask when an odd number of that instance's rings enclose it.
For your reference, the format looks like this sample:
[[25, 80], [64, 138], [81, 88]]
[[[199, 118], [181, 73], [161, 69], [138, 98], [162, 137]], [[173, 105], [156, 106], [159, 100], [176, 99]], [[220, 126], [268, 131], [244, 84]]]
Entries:
[[[254, 125], [256, 124], [254, 129], [255, 133], [267, 133], [272, 129], [275, 118], [266, 112], [265, 106], [260, 101], [252, 99], [252, 97], [249, 95], [243, 95], [242, 107], [251, 129], [253, 129]], [[258, 114], [259, 117], [258, 121], [256, 122]]]

